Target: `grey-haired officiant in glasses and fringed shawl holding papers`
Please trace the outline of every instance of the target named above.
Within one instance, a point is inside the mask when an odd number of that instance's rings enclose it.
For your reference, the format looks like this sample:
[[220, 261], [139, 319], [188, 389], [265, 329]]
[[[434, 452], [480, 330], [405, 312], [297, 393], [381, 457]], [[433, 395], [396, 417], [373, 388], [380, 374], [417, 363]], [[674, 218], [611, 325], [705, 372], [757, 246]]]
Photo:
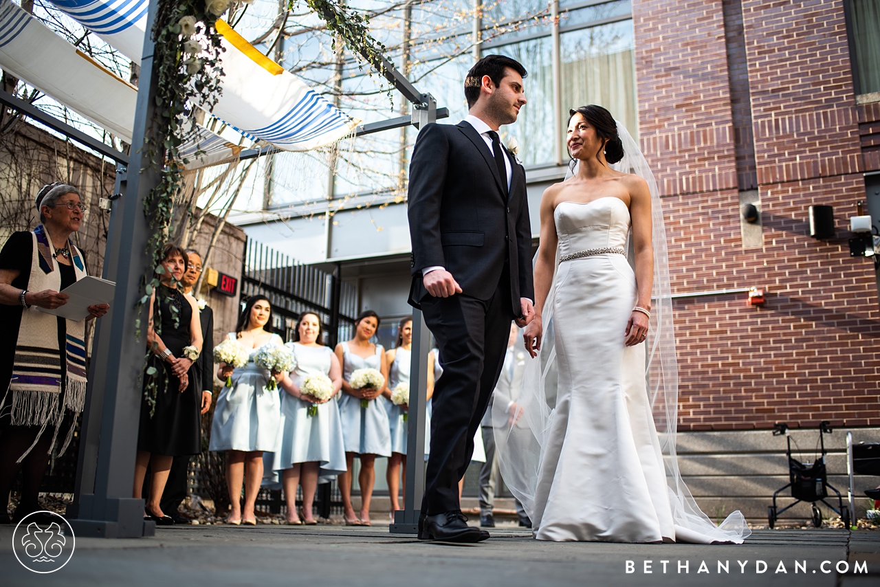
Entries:
[[0, 251], [0, 523], [12, 482], [23, 471], [13, 522], [41, 510], [37, 496], [57, 444], [67, 450], [85, 402], [85, 321], [110, 309], [89, 307], [75, 321], [40, 312], [65, 305], [62, 290], [85, 277], [83, 253], [70, 240], [83, 222], [79, 190], [60, 182], [37, 194], [40, 224], [14, 232]]

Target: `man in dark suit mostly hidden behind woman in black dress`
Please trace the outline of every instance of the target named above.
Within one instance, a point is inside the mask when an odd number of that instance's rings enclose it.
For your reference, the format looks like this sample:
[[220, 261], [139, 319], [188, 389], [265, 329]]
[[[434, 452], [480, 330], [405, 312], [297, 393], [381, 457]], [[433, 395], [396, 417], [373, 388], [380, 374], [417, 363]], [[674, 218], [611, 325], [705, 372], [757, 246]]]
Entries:
[[[194, 296], [193, 287], [202, 275], [202, 255], [195, 249], [187, 249], [185, 252], [187, 273], [181, 280], [183, 293]], [[211, 397], [214, 393], [214, 312], [204, 304], [204, 300], [199, 301], [199, 321], [202, 323], [202, 353], [195, 360], [195, 364], [202, 387], [202, 414], [204, 414], [211, 407]], [[162, 502], [159, 503], [165, 515], [171, 516], [175, 524], [192, 522], [178, 510], [180, 503], [183, 503], [187, 497], [188, 470], [188, 456], [174, 457], [171, 471], [168, 473], [168, 481], [165, 482], [165, 491], [162, 493]]]

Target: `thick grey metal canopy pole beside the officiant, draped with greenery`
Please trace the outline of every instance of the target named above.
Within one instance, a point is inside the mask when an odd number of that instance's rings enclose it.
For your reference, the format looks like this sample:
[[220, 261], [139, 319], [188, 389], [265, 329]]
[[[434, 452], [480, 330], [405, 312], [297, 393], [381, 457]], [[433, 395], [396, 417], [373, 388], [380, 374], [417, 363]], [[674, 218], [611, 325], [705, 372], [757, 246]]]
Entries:
[[[113, 240], [107, 246], [114, 250], [106, 255], [105, 275], [116, 282], [111, 310], [98, 331], [93, 349], [89, 394], [100, 401], [99, 422], [89, 418], [90, 429], [99, 426], [97, 452], [81, 451], [78, 468], [90, 473], [82, 480], [82, 491], [73, 508], [77, 519], [70, 520], [77, 536], [103, 538], [136, 538], [153, 534], [155, 524], [143, 520], [143, 499], [131, 496], [135, 478], [137, 430], [141, 413], [141, 371], [146, 352], [147, 308], [135, 311], [141, 296], [142, 276], [150, 264], [147, 241], [149, 226], [143, 202], [158, 184], [158, 171], [146, 160], [143, 145], [152, 132], [150, 121], [155, 111], [157, 68], [153, 62], [153, 41], [150, 31], [158, 11], [158, 0], [150, 0], [147, 34], [143, 40], [143, 76], [139, 92], [131, 155], [124, 185], [124, 194], [114, 202], [111, 216]], [[141, 336], [136, 338], [140, 320]], [[96, 389], [96, 386], [101, 389]], [[91, 410], [97, 412], [96, 409]], [[84, 437], [94, 438], [95, 430], [84, 430]], [[92, 461], [86, 465], [84, 459]], [[94, 480], [91, 479], [91, 473]], [[84, 473], [85, 474], [85, 473]]]

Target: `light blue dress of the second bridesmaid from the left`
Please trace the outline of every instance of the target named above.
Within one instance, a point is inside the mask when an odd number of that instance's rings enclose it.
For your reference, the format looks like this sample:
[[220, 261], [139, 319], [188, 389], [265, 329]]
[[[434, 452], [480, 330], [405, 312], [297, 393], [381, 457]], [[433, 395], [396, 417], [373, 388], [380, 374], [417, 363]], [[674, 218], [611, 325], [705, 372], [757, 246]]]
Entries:
[[[290, 378], [301, 387], [309, 375], [330, 376], [333, 351], [327, 347], [306, 347], [288, 342], [293, 352], [294, 370]], [[319, 483], [333, 481], [345, 473], [345, 446], [342, 422], [336, 398], [322, 404], [299, 400], [290, 393], [281, 392], [281, 423], [278, 429], [278, 450], [273, 455], [271, 470], [289, 469], [297, 463], [318, 461]], [[341, 393], [341, 392], [340, 392]], [[309, 407], [318, 408], [318, 414], [308, 415]]]

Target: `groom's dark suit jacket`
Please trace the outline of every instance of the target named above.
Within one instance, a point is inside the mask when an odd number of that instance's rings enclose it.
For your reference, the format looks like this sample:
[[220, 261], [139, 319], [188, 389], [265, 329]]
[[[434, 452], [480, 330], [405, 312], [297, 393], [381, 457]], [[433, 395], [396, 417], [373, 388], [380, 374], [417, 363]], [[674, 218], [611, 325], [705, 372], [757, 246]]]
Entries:
[[440, 265], [466, 296], [487, 300], [510, 266], [510, 301], [534, 299], [532, 227], [525, 170], [510, 158], [510, 196], [495, 158], [466, 121], [429, 124], [419, 132], [409, 167], [409, 225], [413, 244], [409, 303], [420, 307], [427, 291], [422, 269]]

